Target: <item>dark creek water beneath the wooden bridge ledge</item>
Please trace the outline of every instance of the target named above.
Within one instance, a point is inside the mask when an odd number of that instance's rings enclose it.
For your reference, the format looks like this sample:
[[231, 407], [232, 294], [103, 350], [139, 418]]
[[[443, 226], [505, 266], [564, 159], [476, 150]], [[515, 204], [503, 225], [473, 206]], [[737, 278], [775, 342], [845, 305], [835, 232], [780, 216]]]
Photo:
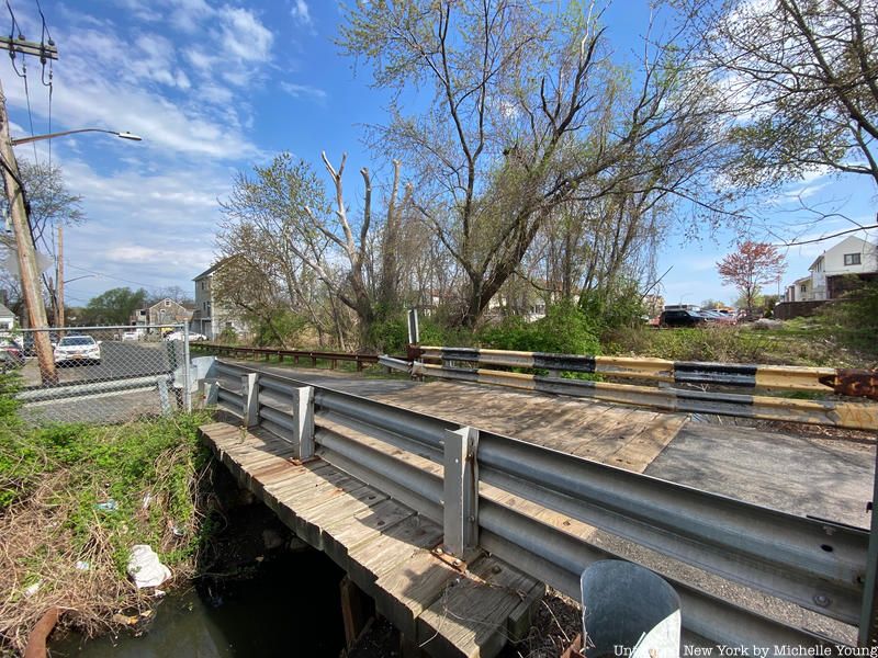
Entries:
[[198, 575], [116, 635], [53, 636], [53, 657], [331, 656], [345, 647], [344, 572], [215, 467]]

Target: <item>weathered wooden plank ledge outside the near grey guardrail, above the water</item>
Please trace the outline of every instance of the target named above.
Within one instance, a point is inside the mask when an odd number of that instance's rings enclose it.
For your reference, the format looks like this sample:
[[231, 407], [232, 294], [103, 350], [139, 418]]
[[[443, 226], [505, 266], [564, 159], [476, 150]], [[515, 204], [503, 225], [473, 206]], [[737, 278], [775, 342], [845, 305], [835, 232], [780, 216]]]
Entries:
[[461, 572], [434, 552], [439, 525], [322, 460], [291, 462], [289, 444], [270, 432], [217, 422], [201, 434], [240, 485], [345, 569], [409, 644], [430, 656], [489, 657], [527, 631], [544, 591], [533, 578], [489, 556]]

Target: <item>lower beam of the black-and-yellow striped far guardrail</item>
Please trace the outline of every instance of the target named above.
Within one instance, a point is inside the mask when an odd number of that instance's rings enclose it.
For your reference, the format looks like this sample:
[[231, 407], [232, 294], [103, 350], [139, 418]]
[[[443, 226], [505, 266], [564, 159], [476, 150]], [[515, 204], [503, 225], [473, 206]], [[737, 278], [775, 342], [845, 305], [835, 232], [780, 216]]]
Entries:
[[562, 379], [492, 370], [443, 367], [415, 363], [412, 373], [443, 379], [510, 386], [539, 393], [587, 397], [609, 402], [654, 407], [666, 411], [719, 413], [759, 420], [783, 420], [855, 430], [878, 429], [878, 405], [834, 400], [705, 393], [682, 388], [654, 388], [609, 382]]

